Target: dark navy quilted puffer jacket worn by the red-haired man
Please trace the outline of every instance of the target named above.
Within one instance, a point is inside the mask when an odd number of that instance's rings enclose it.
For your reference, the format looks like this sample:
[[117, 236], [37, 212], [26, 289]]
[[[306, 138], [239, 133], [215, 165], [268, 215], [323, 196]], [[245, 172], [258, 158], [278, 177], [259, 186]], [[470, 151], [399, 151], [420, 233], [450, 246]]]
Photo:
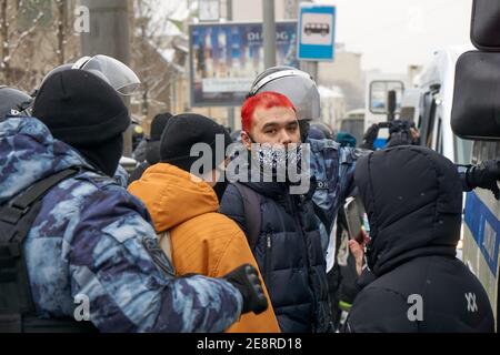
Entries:
[[[319, 220], [309, 196], [284, 183], [243, 183], [260, 195], [261, 227], [253, 255], [284, 333], [332, 329]], [[249, 235], [240, 192], [229, 185], [220, 212]]]

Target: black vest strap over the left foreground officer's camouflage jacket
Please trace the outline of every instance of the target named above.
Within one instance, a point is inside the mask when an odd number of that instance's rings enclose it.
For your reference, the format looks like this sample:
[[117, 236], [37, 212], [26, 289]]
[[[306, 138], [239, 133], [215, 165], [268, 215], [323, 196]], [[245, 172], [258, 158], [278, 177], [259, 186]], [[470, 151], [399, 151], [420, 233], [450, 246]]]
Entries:
[[78, 172], [70, 168], [40, 180], [0, 206], [0, 332], [24, 332], [24, 320], [34, 316], [23, 242], [40, 212], [42, 197]]

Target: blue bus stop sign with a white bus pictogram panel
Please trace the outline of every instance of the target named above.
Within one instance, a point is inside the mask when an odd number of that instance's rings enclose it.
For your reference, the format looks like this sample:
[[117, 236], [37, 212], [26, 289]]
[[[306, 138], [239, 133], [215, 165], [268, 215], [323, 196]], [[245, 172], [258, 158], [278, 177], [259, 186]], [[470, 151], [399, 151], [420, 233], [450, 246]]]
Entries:
[[336, 7], [301, 3], [298, 28], [298, 58], [303, 61], [333, 61]]

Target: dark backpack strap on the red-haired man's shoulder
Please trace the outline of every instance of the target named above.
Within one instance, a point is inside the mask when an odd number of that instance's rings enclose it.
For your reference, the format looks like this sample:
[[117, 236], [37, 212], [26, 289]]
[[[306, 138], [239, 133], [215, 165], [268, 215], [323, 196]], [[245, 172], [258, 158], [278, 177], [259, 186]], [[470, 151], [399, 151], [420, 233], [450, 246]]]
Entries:
[[247, 240], [250, 250], [253, 251], [259, 240], [262, 216], [260, 213], [260, 195], [252, 189], [237, 182], [234, 183], [241, 197], [243, 199], [243, 210], [247, 223]]

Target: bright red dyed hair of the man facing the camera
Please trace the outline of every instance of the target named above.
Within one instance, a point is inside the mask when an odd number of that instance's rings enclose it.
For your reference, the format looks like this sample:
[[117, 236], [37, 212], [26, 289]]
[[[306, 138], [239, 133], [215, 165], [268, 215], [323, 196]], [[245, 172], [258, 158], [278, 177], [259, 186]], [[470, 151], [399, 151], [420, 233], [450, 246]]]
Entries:
[[272, 108], [289, 108], [297, 112], [293, 103], [283, 94], [266, 91], [244, 101], [241, 108], [241, 126], [243, 131], [249, 132], [252, 125], [253, 113], [259, 108], [272, 109]]

